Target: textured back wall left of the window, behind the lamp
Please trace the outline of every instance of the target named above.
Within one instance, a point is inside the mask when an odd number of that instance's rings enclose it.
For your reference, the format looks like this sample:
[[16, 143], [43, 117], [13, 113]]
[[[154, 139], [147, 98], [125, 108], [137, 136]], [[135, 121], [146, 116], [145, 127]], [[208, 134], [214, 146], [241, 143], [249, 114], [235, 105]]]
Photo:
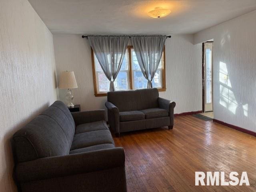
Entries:
[[[74, 104], [83, 111], [103, 109], [106, 97], [94, 96], [91, 48], [80, 35], [53, 35], [57, 77], [61, 71], [74, 71], [77, 89], [72, 89]], [[57, 78], [59, 79], [59, 78]], [[60, 100], [65, 102], [66, 89], [59, 89]]]

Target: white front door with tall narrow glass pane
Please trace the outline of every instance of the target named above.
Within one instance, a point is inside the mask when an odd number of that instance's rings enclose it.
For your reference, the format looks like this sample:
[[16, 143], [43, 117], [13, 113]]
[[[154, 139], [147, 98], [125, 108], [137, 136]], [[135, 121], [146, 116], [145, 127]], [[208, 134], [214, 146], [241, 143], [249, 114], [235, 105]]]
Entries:
[[212, 61], [213, 42], [204, 43], [204, 112], [213, 111]]

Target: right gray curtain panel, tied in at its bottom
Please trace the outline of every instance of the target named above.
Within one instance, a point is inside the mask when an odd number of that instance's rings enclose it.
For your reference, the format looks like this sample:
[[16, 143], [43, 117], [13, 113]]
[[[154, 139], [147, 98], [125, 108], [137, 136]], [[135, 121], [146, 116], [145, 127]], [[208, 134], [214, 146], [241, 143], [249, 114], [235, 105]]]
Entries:
[[162, 57], [166, 36], [134, 36], [131, 39], [140, 69], [148, 80], [148, 88], [152, 88], [152, 79]]

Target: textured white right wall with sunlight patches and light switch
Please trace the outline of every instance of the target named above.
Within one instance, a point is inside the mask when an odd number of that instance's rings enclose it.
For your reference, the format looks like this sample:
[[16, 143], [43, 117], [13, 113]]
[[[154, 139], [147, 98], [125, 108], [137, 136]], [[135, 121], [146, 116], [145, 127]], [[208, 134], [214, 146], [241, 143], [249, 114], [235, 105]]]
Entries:
[[256, 11], [194, 35], [195, 44], [209, 39], [214, 39], [214, 119], [256, 132]]

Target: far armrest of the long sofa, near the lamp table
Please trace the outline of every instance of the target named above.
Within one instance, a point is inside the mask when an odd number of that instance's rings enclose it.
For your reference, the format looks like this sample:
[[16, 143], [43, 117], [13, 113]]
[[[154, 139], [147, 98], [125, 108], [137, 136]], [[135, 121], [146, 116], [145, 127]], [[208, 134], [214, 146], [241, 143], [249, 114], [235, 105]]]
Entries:
[[76, 126], [83, 123], [90, 123], [94, 121], [104, 120], [106, 121], [106, 111], [104, 109], [95, 111], [80, 111], [71, 113]]

